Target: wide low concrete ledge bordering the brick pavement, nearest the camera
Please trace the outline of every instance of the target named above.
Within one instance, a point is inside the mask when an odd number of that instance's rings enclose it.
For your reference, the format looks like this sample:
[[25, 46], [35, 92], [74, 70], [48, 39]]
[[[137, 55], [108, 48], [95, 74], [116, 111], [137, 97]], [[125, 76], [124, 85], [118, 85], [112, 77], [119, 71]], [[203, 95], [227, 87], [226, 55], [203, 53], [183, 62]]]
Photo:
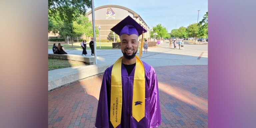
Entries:
[[69, 85], [82, 79], [102, 75], [112, 64], [76, 66], [48, 71], [48, 91]]

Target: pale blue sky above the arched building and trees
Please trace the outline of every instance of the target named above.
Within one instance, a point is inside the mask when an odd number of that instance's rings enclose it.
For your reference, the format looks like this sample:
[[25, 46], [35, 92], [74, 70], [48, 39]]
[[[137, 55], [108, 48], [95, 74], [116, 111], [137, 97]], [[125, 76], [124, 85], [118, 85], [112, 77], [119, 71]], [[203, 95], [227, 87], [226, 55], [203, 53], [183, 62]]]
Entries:
[[208, 0], [94, 0], [94, 8], [103, 5], [129, 8], [138, 13], [149, 28], [161, 24], [168, 32], [197, 23], [197, 18], [201, 21], [208, 12]]

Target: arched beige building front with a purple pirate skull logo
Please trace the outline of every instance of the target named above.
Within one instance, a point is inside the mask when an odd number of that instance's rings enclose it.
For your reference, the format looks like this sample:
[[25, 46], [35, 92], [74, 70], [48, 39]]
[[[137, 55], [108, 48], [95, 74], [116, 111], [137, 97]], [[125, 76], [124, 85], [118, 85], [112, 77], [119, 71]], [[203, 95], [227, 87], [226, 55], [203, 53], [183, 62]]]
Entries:
[[[92, 11], [89, 11], [87, 15], [89, 21], [92, 22]], [[95, 27], [96, 29], [98, 29], [99, 26], [101, 27], [100, 38], [107, 39], [111, 32], [110, 29], [128, 15], [147, 30], [147, 32], [144, 33], [143, 38], [150, 38], [150, 28], [140, 15], [131, 9], [119, 5], [104, 5], [94, 9]], [[96, 39], [99, 39], [99, 37]]]

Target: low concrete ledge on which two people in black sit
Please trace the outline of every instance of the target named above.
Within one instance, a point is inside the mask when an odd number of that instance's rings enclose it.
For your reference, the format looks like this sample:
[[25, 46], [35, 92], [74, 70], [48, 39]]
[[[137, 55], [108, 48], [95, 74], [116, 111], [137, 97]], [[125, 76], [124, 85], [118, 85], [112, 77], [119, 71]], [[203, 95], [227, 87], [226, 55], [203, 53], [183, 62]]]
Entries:
[[73, 54], [48, 54], [48, 58], [82, 61], [90, 65], [92, 65], [94, 61], [94, 57]]

